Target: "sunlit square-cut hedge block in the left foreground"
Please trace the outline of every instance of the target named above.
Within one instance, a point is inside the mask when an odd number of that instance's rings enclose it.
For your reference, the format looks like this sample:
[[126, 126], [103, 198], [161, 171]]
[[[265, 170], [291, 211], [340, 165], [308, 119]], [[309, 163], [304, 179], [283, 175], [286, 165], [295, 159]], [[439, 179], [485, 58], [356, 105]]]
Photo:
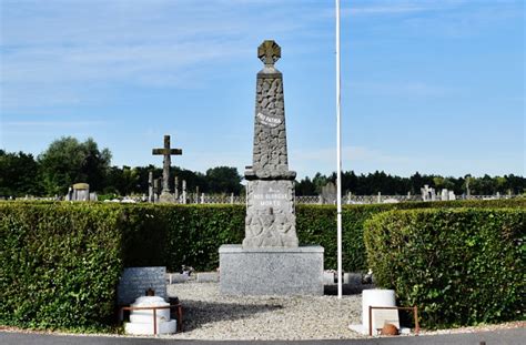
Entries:
[[120, 211], [0, 203], [0, 324], [104, 328], [112, 323]]

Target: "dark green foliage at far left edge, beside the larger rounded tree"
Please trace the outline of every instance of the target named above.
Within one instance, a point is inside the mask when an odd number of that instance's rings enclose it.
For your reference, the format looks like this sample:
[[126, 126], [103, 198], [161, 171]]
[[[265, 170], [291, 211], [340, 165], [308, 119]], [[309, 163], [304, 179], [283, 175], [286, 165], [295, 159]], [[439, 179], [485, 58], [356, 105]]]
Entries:
[[31, 154], [0, 150], [0, 196], [39, 194], [39, 166]]

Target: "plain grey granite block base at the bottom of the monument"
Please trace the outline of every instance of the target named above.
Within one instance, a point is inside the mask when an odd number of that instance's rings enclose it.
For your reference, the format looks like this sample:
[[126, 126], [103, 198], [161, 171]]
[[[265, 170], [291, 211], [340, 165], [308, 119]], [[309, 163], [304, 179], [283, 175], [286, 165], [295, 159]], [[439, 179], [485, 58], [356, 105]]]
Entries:
[[220, 246], [220, 292], [224, 295], [323, 295], [320, 245], [244, 250]]

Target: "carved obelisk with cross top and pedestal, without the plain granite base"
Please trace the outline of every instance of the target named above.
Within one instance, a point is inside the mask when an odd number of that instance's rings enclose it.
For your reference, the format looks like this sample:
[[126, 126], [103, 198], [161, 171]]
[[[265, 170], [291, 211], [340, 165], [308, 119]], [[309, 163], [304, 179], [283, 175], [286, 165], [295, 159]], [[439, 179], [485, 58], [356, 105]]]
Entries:
[[283, 75], [274, 68], [281, 48], [264, 41], [257, 49], [264, 63], [257, 73], [254, 149], [247, 180], [244, 248], [297, 247], [294, 177], [286, 150]]

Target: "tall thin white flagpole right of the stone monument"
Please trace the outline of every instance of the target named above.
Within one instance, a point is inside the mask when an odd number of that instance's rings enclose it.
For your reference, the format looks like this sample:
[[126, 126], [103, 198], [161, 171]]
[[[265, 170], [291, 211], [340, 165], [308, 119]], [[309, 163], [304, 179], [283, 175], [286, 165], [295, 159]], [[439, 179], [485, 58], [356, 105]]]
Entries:
[[342, 123], [340, 77], [340, 0], [336, 1], [336, 204], [337, 204], [337, 297], [342, 298]]

